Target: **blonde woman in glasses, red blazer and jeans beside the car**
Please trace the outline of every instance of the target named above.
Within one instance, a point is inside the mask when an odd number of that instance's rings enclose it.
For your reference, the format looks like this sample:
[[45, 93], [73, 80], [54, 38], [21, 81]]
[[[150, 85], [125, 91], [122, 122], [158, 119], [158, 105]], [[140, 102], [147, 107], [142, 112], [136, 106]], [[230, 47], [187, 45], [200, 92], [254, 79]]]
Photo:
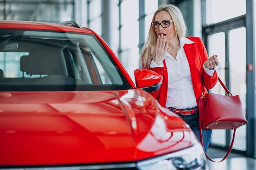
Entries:
[[[218, 80], [217, 55], [210, 58], [198, 37], [185, 37], [186, 24], [175, 5], [160, 5], [155, 11], [148, 39], [141, 51], [143, 68], [163, 75], [161, 88], [151, 93], [159, 104], [177, 113], [200, 139], [198, 98], [203, 83], [213, 88]], [[211, 130], [203, 130], [204, 149], [207, 152]]]

